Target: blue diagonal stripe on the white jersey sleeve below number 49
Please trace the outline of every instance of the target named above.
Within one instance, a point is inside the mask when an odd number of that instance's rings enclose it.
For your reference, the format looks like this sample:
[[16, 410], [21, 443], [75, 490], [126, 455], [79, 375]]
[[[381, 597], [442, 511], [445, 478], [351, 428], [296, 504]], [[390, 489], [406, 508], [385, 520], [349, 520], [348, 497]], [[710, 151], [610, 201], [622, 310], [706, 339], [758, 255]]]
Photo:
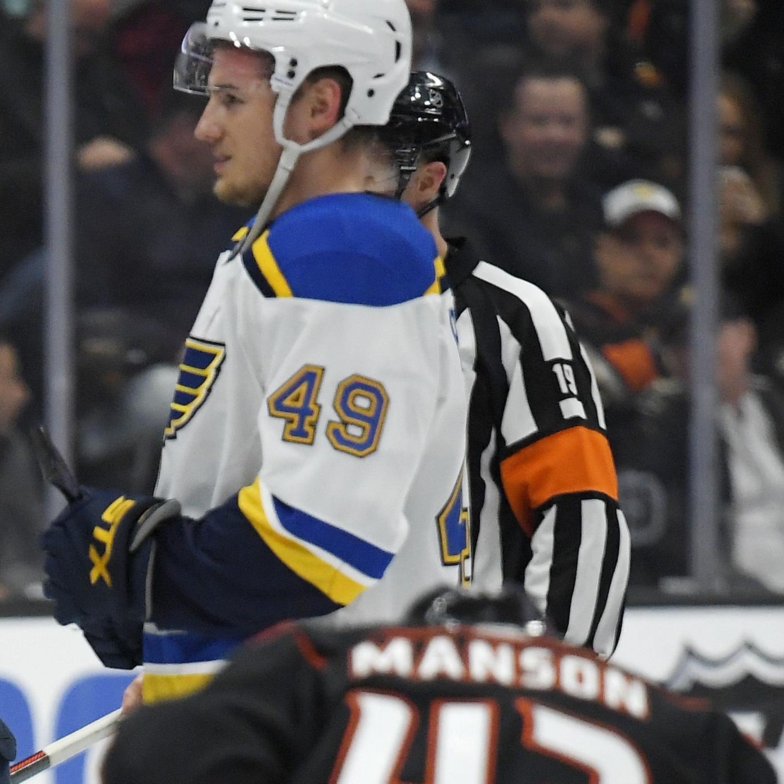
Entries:
[[293, 506], [274, 499], [275, 514], [283, 528], [305, 542], [327, 550], [341, 561], [353, 566], [373, 579], [381, 579], [392, 562], [393, 553], [376, 547], [365, 539], [360, 539], [341, 528], [325, 523], [317, 517], [310, 517]]

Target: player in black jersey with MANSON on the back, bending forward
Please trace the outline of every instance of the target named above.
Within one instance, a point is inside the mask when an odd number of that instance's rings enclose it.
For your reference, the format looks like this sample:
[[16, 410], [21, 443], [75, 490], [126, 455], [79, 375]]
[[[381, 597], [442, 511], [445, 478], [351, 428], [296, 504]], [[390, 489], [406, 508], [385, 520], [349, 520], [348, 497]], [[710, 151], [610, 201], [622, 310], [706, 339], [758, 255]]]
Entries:
[[774, 784], [728, 716], [538, 618], [509, 586], [438, 594], [404, 627], [282, 628], [129, 717], [103, 784]]

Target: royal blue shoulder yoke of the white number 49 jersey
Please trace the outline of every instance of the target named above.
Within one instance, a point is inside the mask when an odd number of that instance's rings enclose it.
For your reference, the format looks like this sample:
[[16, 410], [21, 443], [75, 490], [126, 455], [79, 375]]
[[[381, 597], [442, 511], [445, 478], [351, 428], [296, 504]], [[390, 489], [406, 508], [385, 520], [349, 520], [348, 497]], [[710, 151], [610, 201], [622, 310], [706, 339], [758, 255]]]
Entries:
[[[267, 238], [292, 296], [386, 307], [417, 299], [436, 280], [435, 242], [407, 205], [371, 194], [332, 194], [284, 212]], [[250, 253], [246, 270], [264, 296], [280, 290]]]

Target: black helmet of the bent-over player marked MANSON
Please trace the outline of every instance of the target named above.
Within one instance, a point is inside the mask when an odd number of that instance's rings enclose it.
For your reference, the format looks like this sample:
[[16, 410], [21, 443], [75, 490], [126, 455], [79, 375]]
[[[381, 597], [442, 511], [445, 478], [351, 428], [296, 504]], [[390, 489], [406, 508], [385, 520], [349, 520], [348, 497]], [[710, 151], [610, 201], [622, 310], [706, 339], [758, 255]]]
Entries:
[[521, 626], [531, 637], [560, 635], [539, 612], [522, 586], [507, 583], [498, 593], [441, 588], [426, 593], [408, 610], [412, 626], [470, 626], [503, 623]]

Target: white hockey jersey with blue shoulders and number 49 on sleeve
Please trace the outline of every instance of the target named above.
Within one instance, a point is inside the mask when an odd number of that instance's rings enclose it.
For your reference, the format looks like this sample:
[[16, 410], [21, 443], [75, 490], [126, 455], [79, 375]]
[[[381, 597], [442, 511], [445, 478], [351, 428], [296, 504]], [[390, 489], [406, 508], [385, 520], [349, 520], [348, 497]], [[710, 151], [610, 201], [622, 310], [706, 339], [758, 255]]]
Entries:
[[147, 701], [282, 619], [394, 620], [466, 576], [442, 270], [414, 213], [368, 194], [308, 201], [220, 256], [165, 432], [156, 495], [185, 517], [156, 535]]

